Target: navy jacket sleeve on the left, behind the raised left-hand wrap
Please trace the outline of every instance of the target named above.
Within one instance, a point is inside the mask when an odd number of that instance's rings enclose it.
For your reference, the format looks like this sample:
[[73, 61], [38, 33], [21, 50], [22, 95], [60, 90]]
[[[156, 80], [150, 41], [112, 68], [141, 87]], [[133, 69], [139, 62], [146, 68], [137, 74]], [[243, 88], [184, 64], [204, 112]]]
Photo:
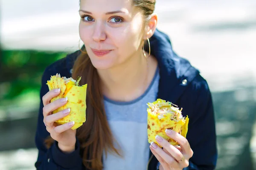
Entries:
[[72, 153], [65, 154], [58, 148], [58, 143], [55, 141], [52, 146], [47, 149], [44, 140], [49, 136], [46, 130], [43, 119], [43, 102], [42, 97], [49, 91], [46, 85], [51, 75], [55, 75], [55, 69], [48, 67], [42, 77], [42, 86], [40, 92], [40, 109], [38, 113], [38, 124], [35, 135], [35, 144], [38, 148], [38, 159], [35, 163], [37, 170], [81, 170], [82, 160], [79, 154], [79, 142], [76, 140], [76, 149]]

